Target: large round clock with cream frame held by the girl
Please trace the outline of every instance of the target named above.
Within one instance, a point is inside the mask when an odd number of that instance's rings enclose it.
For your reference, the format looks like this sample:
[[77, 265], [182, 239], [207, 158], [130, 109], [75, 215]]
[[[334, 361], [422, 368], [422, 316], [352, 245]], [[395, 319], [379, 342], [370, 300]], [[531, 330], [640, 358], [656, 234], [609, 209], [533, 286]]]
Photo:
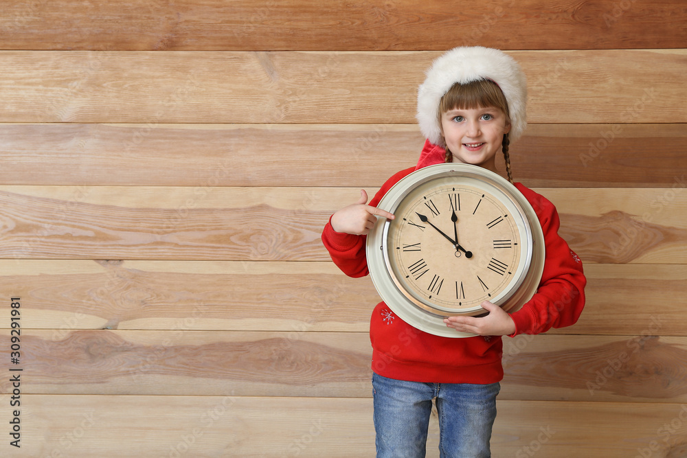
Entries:
[[537, 290], [544, 239], [534, 209], [498, 174], [462, 163], [430, 165], [405, 176], [379, 208], [394, 214], [368, 234], [376, 290], [415, 328], [447, 337], [453, 315], [480, 315], [490, 301], [515, 311]]

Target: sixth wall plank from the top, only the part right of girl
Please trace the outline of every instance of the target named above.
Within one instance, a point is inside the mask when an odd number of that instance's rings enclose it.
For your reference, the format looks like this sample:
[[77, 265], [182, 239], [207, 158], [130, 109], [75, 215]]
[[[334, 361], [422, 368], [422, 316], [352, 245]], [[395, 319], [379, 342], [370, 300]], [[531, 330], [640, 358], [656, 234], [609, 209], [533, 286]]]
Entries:
[[656, 315], [636, 336], [504, 339], [503, 390], [513, 400], [685, 402], [687, 340]]

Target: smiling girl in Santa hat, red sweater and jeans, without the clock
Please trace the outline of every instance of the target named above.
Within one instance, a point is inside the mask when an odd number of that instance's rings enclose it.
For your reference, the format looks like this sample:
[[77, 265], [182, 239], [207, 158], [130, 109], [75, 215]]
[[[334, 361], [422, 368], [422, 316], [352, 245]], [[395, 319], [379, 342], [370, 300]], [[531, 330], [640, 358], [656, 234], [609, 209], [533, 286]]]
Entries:
[[[332, 260], [351, 277], [368, 274], [365, 236], [376, 208], [396, 182], [442, 162], [480, 165], [496, 172], [502, 152], [513, 183], [508, 146], [526, 123], [526, 78], [513, 58], [497, 49], [459, 47], [438, 58], [418, 90], [418, 122], [427, 137], [416, 167], [392, 176], [367, 204], [332, 215], [322, 240]], [[444, 323], [477, 336], [453, 339], [417, 330], [383, 302], [372, 312], [372, 387], [377, 457], [424, 457], [432, 400], [436, 402], [441, 457], [489, 457], [496, 396], [504, 376], [502, 336], [539, 334], [574, 324], [585, 304], [586, 279], [577, 255], [559, 234], [556, 208], [520, 183], [544, 233], [545, 264], [537, 293], [520, 310], [507, 313], [484, 301], [483, 317], [449, 317]]]

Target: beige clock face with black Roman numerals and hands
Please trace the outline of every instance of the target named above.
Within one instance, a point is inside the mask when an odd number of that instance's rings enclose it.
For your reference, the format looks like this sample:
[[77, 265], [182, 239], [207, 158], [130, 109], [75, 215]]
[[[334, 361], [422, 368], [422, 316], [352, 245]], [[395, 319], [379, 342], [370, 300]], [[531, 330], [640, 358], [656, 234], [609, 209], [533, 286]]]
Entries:
[[392, 276], [428, 310], [448, 316], [497, 301], [526, 268], [517, 209], [484, 186], [432, 180], [407, 194], [394, 215], [386, 237]]

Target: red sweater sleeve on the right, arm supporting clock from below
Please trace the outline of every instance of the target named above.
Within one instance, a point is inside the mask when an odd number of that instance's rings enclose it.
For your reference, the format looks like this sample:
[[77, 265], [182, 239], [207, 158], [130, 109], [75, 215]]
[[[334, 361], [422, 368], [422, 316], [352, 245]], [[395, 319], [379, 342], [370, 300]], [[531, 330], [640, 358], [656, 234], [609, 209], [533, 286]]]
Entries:
[[550, 328], [565, 328], [576, 323], [585, 306], [582, 262], [559, 236], [561, 225], [556, 207], [543, 196], [519, 186], [539, 217], [544, 233], [545, 261], [537, 293], [510, 316], [517, 334], [539, 334]]

